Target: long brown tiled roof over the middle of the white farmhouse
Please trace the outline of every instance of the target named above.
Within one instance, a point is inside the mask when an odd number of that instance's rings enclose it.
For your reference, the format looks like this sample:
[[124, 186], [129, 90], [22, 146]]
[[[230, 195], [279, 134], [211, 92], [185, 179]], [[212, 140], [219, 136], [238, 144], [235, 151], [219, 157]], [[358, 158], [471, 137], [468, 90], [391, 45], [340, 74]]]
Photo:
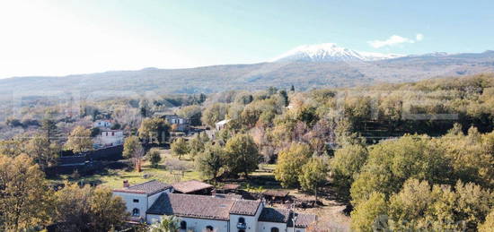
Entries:
[[230, 219], [230, 213], [255, 215], [259, 207], [260, 201], [163, 193], [147, 210], [147, 213], [197, 219], [228, 220]]

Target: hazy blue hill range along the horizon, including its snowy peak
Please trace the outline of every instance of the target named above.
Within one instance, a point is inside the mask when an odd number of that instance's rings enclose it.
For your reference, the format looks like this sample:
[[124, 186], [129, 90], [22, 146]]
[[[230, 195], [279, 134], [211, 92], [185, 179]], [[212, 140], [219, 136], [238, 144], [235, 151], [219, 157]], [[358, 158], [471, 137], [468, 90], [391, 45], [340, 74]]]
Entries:
[[349, 87], [377, 82], [414, 82], [437, 76], [494, 73], [494, 51], [432, 53], [416, 56], [373, 54], [333, 44], [297, 47], [272, 62], [225, 64], [188, 69], [15, 77], [0, 80], [0, 98], [52, 96], [66, 92], [99, 98], [155, 93], [210, 93], [260, 90], [275, 86], [298, 90]]

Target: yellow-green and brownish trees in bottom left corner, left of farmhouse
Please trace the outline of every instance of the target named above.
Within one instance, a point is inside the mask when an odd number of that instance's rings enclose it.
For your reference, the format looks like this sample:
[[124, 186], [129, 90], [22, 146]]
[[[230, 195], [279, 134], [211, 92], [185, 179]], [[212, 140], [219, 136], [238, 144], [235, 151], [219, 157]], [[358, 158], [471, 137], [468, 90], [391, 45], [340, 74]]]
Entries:
[[109, 188], [52, 186], [29, 156], [0, 154], [0, 230], [109, 231], [122, 228], [125, 202]]

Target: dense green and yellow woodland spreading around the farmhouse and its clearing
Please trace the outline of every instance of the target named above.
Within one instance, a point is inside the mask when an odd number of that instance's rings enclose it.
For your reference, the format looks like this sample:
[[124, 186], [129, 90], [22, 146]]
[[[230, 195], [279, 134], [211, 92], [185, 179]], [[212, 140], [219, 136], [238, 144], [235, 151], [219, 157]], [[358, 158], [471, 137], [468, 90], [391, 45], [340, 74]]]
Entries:
[[[6, 112], [0, 125], [0, 230], [53, 222], [80, 231], [121, 226], [123, 202], [110, 190], [68, 183], [58, 189], [44, 180], [43, 170], [57, 165], [60, 150], [93, 149], [91, 125], [98, 119], [112, 119], [124, 130], [124, 157], [136, 168], [142, 158], [160, 161], [143, 150], [150, 143], [171, 143], [173, 154], [190, 155], [215, 184], [248, 179], [260, 163], [276, 164], [274, 175], [284, 187], [316, 200], [334, 190], [348, 203], [356, 231], [490, 231], [494, 223], [491, 74], [348, 89], [31, 99], [13, 111], [22, 114]], [[174, 137], [174, 128], [156, 117], [163, 113], [201, 128], [230, 121], [214, 138]]]

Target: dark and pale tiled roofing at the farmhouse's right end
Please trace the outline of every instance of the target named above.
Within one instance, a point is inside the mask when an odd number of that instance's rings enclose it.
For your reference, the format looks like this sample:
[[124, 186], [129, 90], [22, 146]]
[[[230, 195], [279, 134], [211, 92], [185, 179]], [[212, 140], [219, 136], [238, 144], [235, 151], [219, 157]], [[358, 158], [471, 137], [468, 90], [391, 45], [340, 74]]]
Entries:
[[[296, 228], [307, 228], [311, 225], [317, 218], [312, 214], [296, 213]], [[260, 212], [260, 221], [287, 223], [288, 227], [293, 227], [294, 212], [288, 209], [277, 209], [277, 208], [264, 208]]]

